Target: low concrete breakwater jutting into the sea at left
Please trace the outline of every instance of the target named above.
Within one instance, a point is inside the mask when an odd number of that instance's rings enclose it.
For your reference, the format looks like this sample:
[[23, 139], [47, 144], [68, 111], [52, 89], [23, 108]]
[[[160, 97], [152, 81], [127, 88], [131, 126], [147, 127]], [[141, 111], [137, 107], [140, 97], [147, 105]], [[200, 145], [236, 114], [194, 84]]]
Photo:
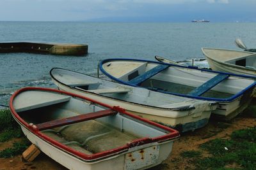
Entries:
[[26, 52], [52, 55], [86, 55], [88, 45], [34, 42], [2, 42], [0, 53]]

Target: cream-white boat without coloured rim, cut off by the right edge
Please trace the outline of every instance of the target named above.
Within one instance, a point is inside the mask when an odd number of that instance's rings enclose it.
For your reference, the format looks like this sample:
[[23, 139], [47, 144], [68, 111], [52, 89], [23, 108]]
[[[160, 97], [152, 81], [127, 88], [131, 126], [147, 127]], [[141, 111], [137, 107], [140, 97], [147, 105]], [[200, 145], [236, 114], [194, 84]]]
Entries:
[[256, 76], [256, 53], [202, 48], [212, 70]]

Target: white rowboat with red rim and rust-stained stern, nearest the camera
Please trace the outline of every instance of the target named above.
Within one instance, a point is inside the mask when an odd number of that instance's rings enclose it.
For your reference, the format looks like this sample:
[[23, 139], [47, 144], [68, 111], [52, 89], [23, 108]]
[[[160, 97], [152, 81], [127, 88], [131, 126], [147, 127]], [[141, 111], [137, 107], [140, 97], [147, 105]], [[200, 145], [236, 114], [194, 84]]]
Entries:
[[27, 138], [68, 169], [145, 169], [172, 152], [179, 132], [87, 97], [27, 87], [10, 99]]

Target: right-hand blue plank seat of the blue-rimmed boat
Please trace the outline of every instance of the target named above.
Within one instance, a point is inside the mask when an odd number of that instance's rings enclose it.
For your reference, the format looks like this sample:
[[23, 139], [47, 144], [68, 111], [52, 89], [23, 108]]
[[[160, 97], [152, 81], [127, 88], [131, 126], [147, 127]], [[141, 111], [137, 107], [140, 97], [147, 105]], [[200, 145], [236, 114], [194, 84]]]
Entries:
[[204, 84], [200, 85], [196, 89], [189, 92], [188, 95], [189, 96], [201, 96], [202, 94], [204, 94], [208, 90], [212, 89], [212, 87], [218, 85], [218, 83], [220, 83], [221, 81], [227, 79], [228, 76], [229, 76], [228, 74], [221, 74], [221, 73], [217, 74], [216, 76], [214, 76], [210, 80], [206, 81]]

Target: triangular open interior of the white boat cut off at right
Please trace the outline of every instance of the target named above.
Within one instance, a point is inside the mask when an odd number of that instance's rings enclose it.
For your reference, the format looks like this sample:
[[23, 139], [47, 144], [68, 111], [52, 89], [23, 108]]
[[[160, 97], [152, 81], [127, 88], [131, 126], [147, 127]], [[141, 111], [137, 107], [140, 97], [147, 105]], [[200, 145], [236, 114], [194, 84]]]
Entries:
[[239, 59], [233, 59], [226, 61], [228, 64], [234, 64], [236, 66], [242, 66], [246, 69], [256, 70], [256, 55], [249, 55], [241, 57]]

